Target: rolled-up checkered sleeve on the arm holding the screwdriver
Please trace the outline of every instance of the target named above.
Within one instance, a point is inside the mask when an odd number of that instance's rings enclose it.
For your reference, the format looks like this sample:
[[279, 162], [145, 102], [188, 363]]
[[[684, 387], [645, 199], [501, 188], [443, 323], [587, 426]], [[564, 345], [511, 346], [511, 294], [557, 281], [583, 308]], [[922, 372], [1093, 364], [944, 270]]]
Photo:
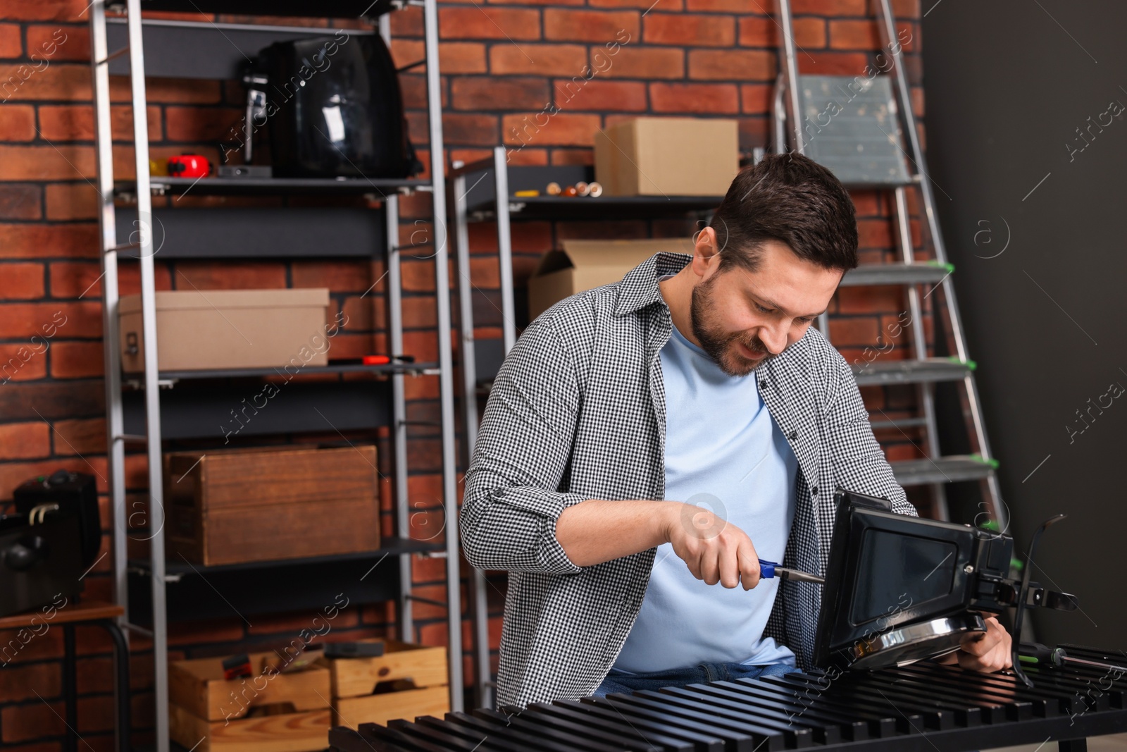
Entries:
[[561, 492], [580, 395], [575, 363], [552, 317], [532, 322], [509, 351], [481, 417], [465, 474], [459, 530], [481, 569], [575, 574], [556, 520], [586, 501]]

